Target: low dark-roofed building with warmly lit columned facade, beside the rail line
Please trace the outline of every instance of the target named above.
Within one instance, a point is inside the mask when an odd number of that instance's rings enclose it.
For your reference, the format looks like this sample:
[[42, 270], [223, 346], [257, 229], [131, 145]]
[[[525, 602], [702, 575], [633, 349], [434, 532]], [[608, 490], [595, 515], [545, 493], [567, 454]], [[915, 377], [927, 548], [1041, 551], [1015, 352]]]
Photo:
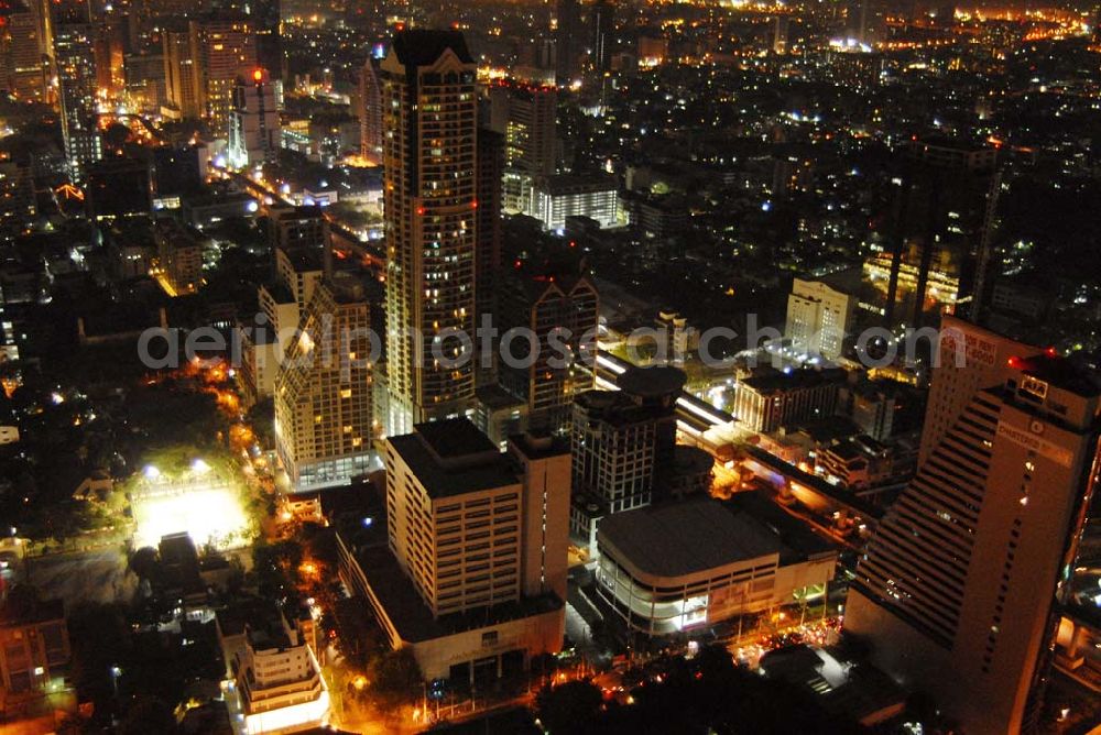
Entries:
[[844, 370], [778, 371], [764, 368], [739, 381], [734, 416], [750, 431], [768, 434], [807, 421], [829, 418], [837, 410]]

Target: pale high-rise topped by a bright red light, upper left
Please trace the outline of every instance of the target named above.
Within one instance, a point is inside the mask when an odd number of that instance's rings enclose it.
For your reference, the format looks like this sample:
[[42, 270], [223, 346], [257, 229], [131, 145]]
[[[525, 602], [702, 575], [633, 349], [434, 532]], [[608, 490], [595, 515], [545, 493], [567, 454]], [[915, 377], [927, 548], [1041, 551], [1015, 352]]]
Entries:
[[275, 163], [280, 143], [275, 85], [268, 78], [268, 72], [257, 68], [248, 77], [238, 77], [233, 86], [227, 149], [229, 165], [251, 171], [265, 163]]

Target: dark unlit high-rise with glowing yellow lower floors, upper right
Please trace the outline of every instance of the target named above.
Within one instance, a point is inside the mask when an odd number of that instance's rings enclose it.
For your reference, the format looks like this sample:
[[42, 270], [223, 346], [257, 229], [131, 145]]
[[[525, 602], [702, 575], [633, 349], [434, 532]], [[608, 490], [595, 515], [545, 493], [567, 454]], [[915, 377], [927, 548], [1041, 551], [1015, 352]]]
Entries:
[[[973, 318], [984, 298], [990, 267], [1001, 182], [998, 151], [917, 141], [900, 156], [886, 232], [891, 270], [884, 323], [922, 326], [930, 320], [929, 301], [956, 304], [958, 314]], [[935, 293], [938, 270], [959, 282], [957, 294]], [[900, 317], [904, 297], [911, 312]]]

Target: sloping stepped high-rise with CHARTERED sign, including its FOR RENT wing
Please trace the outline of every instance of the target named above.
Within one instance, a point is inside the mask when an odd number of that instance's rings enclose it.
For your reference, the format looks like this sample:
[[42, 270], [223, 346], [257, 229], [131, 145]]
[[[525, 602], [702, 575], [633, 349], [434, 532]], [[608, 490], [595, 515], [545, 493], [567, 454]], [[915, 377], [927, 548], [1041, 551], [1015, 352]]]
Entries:
[[[1028, 732], [1101, 481], [1101, 384], [1035, 348], [1014, 354], [1011, 340], [952, 327], [928, 407], [936, 440], [858, 566], [844, 627], [962, 731]], [[967, 365], [977, 385], [961, 379]]]

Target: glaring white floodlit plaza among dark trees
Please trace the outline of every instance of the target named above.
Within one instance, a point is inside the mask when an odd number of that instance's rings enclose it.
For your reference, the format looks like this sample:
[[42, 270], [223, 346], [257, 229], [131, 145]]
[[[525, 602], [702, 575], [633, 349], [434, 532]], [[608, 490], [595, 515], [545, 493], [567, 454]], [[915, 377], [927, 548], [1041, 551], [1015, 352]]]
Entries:
[[242, 546], [249, 519], [237, 490], [203, 460], [170, 475], [146, 467], [133, 493], [134, 545], [155, 547], [162, 537], [186, 533], [196, 546], [218, 549]]

